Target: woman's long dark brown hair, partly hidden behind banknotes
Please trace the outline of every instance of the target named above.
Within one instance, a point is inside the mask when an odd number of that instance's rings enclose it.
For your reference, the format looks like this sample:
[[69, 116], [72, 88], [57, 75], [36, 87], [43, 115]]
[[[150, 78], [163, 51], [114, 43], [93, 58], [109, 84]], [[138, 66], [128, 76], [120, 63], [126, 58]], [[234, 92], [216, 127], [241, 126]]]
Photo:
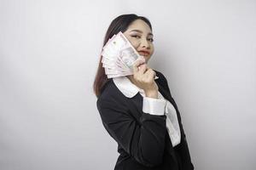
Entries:
[[[151, 23], [146, 17], [138, 16], [137, 14], [122, 14], [122, 15], [119, 15], [117, 18], [115, 18], [111, 22], [110, 26], [108, 26], [108, 31], [106, 32], [103, 46], [108, 42], [109, 38], [113, 37], [114, 34], [119, 33], [119, 31], [125, 32], [128, 26], [130, 26], [131, 22], [133, 22], [134, 20], [145, 21], [152, 31]], [[102, 67], [102, 55], [101, 55], [98, 69], [96, 72], [95, 81], [93, 84], [93, 89], [94, 89], [94, 93], [96, 94], [96, 97], [98, 97], [101, 94], [102, 87], [106, 82], [108, 82], [108, 77], [106, 76], [105, 70]]]

